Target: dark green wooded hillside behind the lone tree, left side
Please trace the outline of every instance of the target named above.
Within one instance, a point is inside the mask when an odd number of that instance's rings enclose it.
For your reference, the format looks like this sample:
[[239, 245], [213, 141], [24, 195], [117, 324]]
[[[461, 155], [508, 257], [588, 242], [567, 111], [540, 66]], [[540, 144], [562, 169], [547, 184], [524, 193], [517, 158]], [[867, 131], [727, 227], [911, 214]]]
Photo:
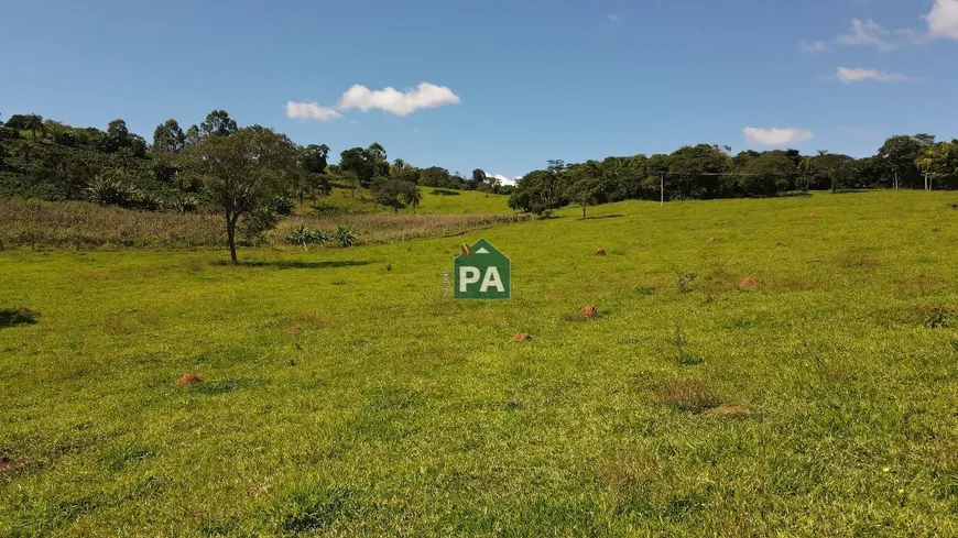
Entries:
[[[206, 138], [229, 136], [239, 129], [227, 111], [214, 110], [186, 130], [168, 119], [156, 125], [152, 141], [148, 141], [130, 132], [122, 119], [101, 131], [39, 114], [13, 114], [0, 127], [0, 196], [196, 210], [209, 201], [208, 197], [177, 157]], [[438, 166], [420, 168], [402, 158], [390, 163], [378, 143], [342, 151], [337, 165], [328, 164], [329, 152], [326, 144], [296, 146], [298, 174], [293, 198], [302, 201], [307, 196], [322, 196], [334, 186], [364, 187], [374, 190], [379, 204], [398, 210], [418, 204], [410, 185], [488, 191], [501, 188], [481, 169], [465, 177]]]

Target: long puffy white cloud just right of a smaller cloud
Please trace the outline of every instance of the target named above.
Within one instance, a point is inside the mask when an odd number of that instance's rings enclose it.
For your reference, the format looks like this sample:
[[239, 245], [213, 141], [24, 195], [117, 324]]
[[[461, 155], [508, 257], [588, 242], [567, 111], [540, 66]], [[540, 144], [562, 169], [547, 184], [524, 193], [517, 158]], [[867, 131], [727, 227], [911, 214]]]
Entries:
[[390, 87], [370, 90], [366, 86], [357, 84], [342, 94], [337, 108], [339, 110], [359, 109], [363, 112], [381, 109], [396, 116], [409, 116], [420, 109], [458, 105], [459, 102], [459, 96], [453, 90], [429, 83], [420, 83], [418, 86], [406, 91], [399, 91]]

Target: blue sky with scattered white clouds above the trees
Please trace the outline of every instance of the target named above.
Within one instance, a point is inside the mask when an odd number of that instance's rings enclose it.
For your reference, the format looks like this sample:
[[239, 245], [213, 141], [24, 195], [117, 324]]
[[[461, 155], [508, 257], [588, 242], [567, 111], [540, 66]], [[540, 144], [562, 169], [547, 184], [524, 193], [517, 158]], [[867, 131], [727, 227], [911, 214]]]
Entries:
[[514, 177], [698, 142], [867, 155], [891, 134], [958, 136], [958, 0], [32, 0], [0, 15], [3, 118], [122, 118], [148, 140], [221, 108], [335, 154], [379, 142]]

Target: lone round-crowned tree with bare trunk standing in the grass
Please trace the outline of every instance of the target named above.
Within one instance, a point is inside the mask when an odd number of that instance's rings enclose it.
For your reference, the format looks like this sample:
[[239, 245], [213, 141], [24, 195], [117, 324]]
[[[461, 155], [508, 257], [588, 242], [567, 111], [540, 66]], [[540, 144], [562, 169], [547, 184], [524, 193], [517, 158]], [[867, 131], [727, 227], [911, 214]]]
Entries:
[[290, 139], [260, 125], [225, 136], [204, 136], [185, 152], [186, 168], [196, 174], [226, 218], [233, 263], [237, 222], [294, 188], [296, 157], [296, 145]]

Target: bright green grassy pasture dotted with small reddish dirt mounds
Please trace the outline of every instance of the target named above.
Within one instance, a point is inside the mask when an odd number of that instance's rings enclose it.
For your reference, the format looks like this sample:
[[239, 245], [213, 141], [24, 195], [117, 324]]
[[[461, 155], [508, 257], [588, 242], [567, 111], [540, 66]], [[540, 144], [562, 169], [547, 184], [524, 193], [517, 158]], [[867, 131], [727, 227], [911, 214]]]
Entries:
[[[958, 536], [956, 201], [0, 253], [0, 536]], [[444, 298], [480, 235], [512, 300]]]

